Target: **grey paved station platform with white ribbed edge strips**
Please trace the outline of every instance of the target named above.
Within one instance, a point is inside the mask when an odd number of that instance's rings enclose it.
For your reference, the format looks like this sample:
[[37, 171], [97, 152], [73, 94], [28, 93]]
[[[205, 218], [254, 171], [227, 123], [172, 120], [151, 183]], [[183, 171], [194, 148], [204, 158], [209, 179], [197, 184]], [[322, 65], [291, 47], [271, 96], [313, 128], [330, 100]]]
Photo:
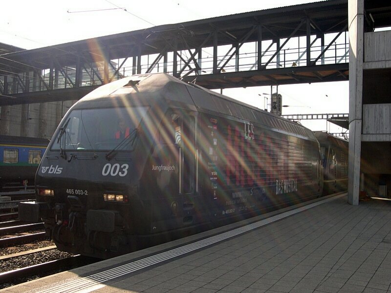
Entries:
[[390, 201], [344, 193], [268, 216], [1, 292], [391, 292]]

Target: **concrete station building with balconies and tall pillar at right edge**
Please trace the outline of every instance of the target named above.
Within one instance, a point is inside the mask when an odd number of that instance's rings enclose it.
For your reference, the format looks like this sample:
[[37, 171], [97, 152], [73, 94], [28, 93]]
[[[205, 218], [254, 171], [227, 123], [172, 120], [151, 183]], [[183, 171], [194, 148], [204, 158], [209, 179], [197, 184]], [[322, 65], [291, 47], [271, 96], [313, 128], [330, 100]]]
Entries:
[[349, 0], [348, 202], [391, 197], [391, 30], [378, 1]]

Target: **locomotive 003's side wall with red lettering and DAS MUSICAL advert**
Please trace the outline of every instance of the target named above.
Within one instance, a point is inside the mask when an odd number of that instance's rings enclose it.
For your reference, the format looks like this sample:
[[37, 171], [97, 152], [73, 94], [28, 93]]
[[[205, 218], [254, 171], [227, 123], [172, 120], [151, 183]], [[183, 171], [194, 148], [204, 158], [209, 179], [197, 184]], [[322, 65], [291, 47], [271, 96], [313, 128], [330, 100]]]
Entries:
[[201, 190], [214, 221], [319, 196], [314, 142], [217, 115], [199, 121]]

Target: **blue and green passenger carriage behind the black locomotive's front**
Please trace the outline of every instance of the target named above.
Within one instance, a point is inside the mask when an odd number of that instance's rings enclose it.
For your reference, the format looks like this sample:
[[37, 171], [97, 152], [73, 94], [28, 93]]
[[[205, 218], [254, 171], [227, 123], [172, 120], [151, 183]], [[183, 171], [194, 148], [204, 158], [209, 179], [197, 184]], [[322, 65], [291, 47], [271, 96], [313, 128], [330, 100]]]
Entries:
[[0, 187], [9, 183], [34, 184], [48, 139], [0, 135]]

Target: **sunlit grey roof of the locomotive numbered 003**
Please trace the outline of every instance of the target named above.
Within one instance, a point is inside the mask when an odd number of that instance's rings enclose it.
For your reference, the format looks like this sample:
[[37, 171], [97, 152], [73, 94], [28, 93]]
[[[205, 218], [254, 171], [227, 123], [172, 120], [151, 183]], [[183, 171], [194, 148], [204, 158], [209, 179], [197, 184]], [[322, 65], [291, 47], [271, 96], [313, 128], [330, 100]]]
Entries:
[[133, 75], [102, 85], [79, 100], [74, 107], [109, 107], [114, 103], [125, 105], [128, 98], [136, 100], [139, 105], [151, 105], [164, 99], [173, 107], [217, 112], [315, 140], [312, 131], [300, 124], [201, 86], [184, 83], [165, 73]]

